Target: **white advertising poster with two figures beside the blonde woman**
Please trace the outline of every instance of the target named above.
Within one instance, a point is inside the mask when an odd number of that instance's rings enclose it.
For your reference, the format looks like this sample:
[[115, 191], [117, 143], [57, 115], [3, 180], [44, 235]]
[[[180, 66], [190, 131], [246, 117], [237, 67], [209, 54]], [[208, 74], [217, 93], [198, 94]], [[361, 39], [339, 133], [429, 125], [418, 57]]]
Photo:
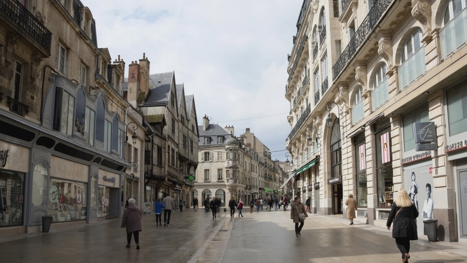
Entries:
[[[433, 218], [433, 175], [431, 161], [428, 165], [404, 167], [404, 189], [418, 209], [417, 231], [423, 233], [423, 221]], [[425, 163], [427, 164], [427, 163]], [[423, 165], [423, 164], [422, 164]]]

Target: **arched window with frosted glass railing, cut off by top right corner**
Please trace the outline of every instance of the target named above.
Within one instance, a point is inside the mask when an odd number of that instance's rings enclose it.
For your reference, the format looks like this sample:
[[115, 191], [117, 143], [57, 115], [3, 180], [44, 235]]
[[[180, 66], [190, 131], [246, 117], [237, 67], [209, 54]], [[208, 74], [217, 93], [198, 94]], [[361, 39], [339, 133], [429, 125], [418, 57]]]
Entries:
[[449, 0], [446, 4], [440, 30], [441, 57], [451, 54], [467, 40], [467, 1]]

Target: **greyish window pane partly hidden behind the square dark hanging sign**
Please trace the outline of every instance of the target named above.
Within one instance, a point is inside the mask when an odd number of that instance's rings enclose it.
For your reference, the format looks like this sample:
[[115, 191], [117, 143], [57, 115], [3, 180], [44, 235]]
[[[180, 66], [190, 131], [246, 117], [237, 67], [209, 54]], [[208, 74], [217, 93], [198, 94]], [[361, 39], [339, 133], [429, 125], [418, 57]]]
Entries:
[[415, 139], [413, 137], [413, 124], [429, 122], [428, 102], [420, 105], [416, 109], [409, 111], [402, 116], [402, 126], [404, 135], [404, 151], [415, 149]]

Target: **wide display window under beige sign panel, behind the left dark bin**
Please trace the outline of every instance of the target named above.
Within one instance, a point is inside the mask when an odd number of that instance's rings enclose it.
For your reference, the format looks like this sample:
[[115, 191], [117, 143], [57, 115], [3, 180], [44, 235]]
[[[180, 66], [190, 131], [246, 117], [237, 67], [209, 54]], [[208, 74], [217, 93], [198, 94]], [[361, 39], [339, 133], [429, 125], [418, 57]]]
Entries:
[[52, 222], [86, 219], [87, 184], [51, 178], [49, 189], [49, 215]]

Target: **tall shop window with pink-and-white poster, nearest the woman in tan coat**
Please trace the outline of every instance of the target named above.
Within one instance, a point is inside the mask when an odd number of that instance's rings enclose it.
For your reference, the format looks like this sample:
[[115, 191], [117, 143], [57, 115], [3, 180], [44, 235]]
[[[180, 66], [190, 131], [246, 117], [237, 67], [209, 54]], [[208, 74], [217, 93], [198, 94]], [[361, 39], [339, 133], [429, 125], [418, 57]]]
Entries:
[[355, 136], [355, 177], [357, 181], [357, 205], [368, 205], [367, 167], [365, 153], [365, 133]]

